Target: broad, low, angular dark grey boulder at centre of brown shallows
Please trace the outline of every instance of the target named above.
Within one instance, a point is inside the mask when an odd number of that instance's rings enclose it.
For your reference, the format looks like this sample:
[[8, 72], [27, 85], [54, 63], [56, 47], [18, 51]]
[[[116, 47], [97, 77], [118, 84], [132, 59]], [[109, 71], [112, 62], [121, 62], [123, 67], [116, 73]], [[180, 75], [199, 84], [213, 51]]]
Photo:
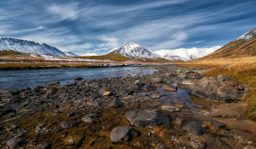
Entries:
[[156, 109], [135, 109], [125, 114], [131, 125], [142, 128], [154, 128], [167, 122], [167, 116]]

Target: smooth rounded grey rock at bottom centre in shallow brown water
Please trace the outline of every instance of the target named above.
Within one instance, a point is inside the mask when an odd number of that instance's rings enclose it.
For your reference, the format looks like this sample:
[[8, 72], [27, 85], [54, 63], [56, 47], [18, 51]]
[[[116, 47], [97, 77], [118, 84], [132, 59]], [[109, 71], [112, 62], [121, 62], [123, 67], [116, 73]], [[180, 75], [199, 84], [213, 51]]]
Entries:
[[111, 142], [131, 141], [137, 138], [139, 133], [132, 126], [118, 126], [115, 127], [111, 134]]

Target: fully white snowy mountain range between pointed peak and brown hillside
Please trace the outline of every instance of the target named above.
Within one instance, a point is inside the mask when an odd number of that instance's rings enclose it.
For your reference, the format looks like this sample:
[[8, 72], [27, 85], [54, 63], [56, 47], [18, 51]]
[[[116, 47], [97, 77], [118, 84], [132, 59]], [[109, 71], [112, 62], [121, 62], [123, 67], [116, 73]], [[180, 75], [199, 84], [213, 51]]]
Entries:
[[211, 48], [179, 48], [175, 50], [170, 50], [163, 58], [169, 59], [169, 60], [184, 60], [188, 61], [191, 59], [197, 59], [197, 58], [202, 58], [203, 56], [206, 56], [222, 46], [215, 46]]

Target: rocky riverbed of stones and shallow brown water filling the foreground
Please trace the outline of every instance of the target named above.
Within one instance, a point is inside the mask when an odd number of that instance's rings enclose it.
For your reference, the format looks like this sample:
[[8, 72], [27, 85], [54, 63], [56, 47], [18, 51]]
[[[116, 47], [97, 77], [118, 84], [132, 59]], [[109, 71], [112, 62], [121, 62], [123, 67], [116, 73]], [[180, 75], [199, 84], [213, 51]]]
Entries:
[[208, 68], [147, 69], [158, 71], [0, 90], [0, 148], [254, 149], [248, 86]]

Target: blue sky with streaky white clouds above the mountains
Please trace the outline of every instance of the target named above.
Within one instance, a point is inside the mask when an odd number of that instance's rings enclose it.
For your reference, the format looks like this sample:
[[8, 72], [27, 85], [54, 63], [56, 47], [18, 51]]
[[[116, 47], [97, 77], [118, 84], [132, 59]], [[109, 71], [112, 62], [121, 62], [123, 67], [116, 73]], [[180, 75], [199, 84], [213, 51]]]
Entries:
[[221, 46], [256, 28], [255, 0], [0, 0], [0, 36], [76, 54]]

